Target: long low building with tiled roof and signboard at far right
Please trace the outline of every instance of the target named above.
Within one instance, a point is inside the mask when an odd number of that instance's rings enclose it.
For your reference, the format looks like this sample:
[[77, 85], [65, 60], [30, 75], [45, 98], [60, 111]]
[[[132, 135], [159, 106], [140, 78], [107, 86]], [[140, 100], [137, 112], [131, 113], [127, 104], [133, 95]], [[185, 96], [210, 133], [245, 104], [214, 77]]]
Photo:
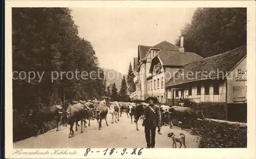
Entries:
[[246, 121], [247, 47], [187, 63], [166, 84], [168, 99], [223, 103], [227, 120]]

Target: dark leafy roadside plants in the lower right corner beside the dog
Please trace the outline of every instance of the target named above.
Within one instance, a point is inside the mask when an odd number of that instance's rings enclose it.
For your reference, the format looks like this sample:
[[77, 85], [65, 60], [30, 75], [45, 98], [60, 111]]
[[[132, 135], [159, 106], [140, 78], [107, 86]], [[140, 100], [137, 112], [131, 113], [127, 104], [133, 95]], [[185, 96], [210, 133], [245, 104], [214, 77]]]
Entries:
[[200, 148], [246, 148], [247, 124], [197, 120], [192, 134], [201, 136]]

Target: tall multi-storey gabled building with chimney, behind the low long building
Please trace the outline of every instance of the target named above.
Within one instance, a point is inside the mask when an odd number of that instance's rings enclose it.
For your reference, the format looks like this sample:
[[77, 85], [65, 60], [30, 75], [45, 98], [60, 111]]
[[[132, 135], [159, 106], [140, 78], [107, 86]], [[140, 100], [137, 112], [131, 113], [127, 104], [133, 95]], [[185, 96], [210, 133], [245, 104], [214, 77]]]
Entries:
[[159, 102], [164, 103], [167, 95], [165, 83], [183, 65], [201, 58], [193, 52], [184, 51], [183, 37], [180, 48], [167, 41], [153, 47], [139, 45], [138, 57], [134, 58], [136, 93], [132, 98], [144, 100], [157, 97]]

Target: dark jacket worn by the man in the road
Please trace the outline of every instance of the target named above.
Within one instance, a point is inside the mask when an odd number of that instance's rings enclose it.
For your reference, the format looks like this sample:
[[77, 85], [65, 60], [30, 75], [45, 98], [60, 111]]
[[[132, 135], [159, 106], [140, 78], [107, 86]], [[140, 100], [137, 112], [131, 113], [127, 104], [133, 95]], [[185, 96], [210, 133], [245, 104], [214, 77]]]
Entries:
[[[155, 110], [155, 113], [151, 110], [152, 107]], [[150, 126], [150, 127], [157, 127], [161, 124], [161, 112], [160, 108], [157, 105], [148, 105], [145, 107], [145, 120], [143, 121], [142, 125]]]

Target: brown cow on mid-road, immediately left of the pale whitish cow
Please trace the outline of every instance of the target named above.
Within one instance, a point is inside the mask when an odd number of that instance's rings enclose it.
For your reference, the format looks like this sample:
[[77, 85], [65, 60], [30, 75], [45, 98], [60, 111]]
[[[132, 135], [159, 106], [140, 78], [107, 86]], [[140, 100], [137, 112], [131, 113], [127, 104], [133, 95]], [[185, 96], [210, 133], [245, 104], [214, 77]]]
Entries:
[[103, 102], [99, 102], [95, 106], [94, 110], [96, 111], [96, 119], [97, 119], [97, 122], [99, 123], [99, 130], [102, 127], [101, 126], [102, 119], [105, 120], [106, 126], [109, 126], [108, 122], [106, 121], [106, 115], [108, 115], [109, 108]]

